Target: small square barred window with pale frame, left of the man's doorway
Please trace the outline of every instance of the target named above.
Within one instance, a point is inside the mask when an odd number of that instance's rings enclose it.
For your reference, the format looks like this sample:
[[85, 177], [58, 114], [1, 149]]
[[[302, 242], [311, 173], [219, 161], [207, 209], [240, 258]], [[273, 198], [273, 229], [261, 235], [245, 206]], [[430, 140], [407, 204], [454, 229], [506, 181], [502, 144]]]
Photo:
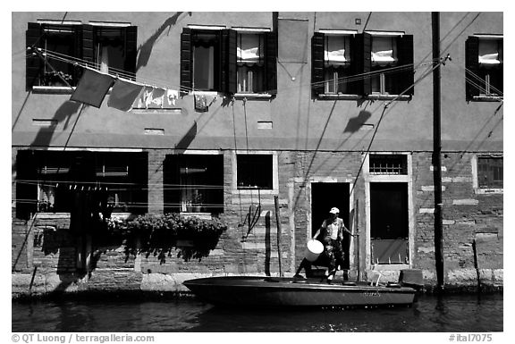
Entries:
[[238, 189], [273, 189], [273, 155], [237, 155]]

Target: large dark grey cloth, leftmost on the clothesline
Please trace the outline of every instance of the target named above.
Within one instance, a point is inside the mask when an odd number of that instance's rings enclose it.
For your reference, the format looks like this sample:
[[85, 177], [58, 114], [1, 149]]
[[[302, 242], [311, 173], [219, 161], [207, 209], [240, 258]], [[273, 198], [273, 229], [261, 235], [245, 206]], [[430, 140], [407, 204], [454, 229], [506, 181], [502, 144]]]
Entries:
[[84, 68], [84, 72], [70, 100], [99, 108], [113, 83], [114, 78], [112, 76]]

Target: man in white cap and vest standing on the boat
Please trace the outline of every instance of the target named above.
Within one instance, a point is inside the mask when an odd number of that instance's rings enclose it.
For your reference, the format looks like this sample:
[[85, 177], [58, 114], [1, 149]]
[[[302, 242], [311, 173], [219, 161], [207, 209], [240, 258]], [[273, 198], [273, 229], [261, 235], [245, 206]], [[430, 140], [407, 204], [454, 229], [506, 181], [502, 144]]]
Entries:
[[313, 239], [317, 239], [319, 234], [322, 234], [322, 244], [324, 244], [324, 253], [329, 260], [329, 269], [327, 271], [327, 281], [333, 280], [334, 274], [338, 270], [338, 266], [343, 266], [343, 251], [342, 251], [342, 239], [343, 231], [352, 233], [345, 227], [343, 220], [338, 217], [340, 210], [338, 208], [331, 208], [329, 211], [329, 217], [324, 220], [322, 226], [313, 236]]

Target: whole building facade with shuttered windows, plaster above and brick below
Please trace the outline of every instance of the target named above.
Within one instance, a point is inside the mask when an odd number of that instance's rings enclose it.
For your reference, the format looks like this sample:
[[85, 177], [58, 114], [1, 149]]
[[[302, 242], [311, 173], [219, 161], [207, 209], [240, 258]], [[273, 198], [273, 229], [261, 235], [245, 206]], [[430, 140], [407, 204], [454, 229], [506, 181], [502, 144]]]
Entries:
[[[440, 14], [448, 286], [502, 286], [502, 19]], [[434, 286], [432, 44], [431, 13], [13, 13], [13, 293], [291, 275], [333, 206], [350, 275]], [[98, 195], [227, 230], [127, 254], [74, 220]]]

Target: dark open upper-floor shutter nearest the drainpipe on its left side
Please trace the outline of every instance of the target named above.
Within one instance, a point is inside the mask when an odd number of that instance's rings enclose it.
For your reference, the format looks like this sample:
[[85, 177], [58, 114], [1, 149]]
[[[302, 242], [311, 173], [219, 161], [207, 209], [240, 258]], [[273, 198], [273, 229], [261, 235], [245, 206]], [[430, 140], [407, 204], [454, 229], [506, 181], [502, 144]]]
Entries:
[[[414, 87], [415, 74], [413, 68], [413, 35], [403, 35], [397, 38], [397, 58], [398, 66], [406, 66], [399, 73], [395, 73], [395, 93], [400, 95], [413, 96], [415, 94]], [[409, 88], [409, 89], [408, 89]]]

